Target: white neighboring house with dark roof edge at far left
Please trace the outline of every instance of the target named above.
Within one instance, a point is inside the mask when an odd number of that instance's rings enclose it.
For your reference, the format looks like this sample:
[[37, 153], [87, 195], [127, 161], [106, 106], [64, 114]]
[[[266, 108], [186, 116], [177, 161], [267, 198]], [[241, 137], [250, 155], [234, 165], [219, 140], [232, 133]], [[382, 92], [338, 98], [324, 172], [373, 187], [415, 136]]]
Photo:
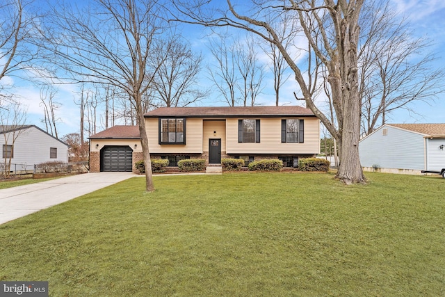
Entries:
[[35, 164], [68, 161], [68, 145], [35, 125], [0, 126], [0, 145], [5, 163], [11, 159], [10, 170], [32, 170]]

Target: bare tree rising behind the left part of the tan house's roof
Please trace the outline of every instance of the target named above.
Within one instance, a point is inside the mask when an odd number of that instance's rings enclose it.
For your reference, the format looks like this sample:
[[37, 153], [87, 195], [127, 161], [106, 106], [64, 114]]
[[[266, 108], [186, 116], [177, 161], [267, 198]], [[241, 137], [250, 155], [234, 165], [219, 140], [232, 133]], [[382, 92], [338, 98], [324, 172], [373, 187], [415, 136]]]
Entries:
[[[154, 80], [155, 106], [188, 106], [208, 95], [208, 90], [197, 87], [197, 75], [200, 73], [202, 56], [195, 55], [190, 45], [182, 42], [177, 35], [166, 38], [157, 50], [156, 58], [161, 67]], [[165, 57], [165, 49], [170, 48]]]

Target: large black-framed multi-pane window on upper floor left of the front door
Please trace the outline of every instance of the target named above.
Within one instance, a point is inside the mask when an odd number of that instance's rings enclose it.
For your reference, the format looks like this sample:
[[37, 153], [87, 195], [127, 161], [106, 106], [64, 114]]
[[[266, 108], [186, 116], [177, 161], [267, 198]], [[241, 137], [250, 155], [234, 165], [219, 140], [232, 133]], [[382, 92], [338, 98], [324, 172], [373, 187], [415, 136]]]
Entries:
[[159, 119], [159, 144], [160, 145], [185, 145], [186, 144], [186, 119], [185, 118], [160, 118]]

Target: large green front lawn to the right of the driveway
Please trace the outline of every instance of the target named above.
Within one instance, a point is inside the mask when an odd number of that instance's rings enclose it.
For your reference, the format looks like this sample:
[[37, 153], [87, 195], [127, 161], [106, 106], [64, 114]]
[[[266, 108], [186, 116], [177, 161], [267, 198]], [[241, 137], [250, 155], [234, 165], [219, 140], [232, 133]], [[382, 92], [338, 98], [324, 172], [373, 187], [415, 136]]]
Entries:
[[0, 280], [50, 296], [444, 296], [445, 181], [136, 177], [0, 225]]

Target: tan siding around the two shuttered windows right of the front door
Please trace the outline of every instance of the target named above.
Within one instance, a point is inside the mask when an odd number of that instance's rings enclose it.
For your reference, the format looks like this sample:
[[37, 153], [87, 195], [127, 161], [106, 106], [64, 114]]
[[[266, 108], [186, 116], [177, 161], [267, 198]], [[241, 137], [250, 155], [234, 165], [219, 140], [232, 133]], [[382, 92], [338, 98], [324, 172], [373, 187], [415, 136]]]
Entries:
[[255, 118], [260, 120], [260, 143], [238, 143], [238, 120], [227, 119], [227, 154], [317, 154], [320, 151], [320, 127], [317, 118], [305, 120], [304, 143], [281, 142], [281, 120], [284, 118]]

